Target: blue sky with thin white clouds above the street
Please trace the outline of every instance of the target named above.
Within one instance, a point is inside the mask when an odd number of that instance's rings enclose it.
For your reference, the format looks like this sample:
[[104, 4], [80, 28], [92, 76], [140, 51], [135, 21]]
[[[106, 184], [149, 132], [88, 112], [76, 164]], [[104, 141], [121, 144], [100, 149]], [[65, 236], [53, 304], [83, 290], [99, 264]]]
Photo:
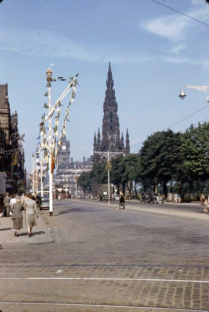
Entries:
[[[202, 0], [158, 0], [209, 24]], [[129, 129], [131, 152], [148, 135], [209, 105], [207, 94], [182, 85], [208, 85], [209, 26], [152, 0], [3, 0], [0, 4], [0, 84], [8, 83], [11, 113], [17, 110], [27, 172], [32, 170], [46, 98], [46, 70], [53, 77], [79, 73], [66, 125], [70, 157], [93, 150], [102, 125], [109, 61], [120, 132]], [[66, 88], [53, 82], [52, 103]], [[69, 97], [61, 106], [64, 115]], [[209, 107], [171, 127], [182, 131], [209, 118]], [[208, 119], [209, 121], [209, 119]], [[137, 144], [137, 145], [135, 145]]]

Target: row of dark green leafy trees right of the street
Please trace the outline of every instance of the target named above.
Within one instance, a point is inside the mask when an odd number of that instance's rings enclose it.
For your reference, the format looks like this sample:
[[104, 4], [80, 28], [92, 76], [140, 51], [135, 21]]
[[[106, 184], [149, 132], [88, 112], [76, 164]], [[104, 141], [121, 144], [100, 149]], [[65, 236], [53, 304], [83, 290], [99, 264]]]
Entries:
[[[83, 190], [91, 191], [92, 179], [107, 183], [106, 162], [93, 166], [78, 178]], [[143, 142], [138, 154], [118, 156], [111, 161], [110, 182], [121, 189], [137, 186], [146, 192], [151, 187], [178, 193], [208, 192], [209, 123], [191, 125], [186, 132], [158, 131]]]

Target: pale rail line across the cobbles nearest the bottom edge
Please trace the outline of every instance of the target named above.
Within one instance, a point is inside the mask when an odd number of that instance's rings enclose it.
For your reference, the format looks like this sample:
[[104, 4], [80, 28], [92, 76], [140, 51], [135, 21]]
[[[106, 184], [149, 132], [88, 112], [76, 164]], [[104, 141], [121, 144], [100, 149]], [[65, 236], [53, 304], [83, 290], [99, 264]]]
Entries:
[[192, 310], [192, 309], [177, 309], [177, 308], [156, 308], [156, 307], [141, 307], [134, 305], [91, 305], [84, 303], [49, 303], [49, 302], [10, 302], [10, 301], [0, 301], [0, 303], [11, 303], [20, 305], [81, 305], [81, 306], [91, 306], [91, 307], [113, 307], [113, 308], [133, 308], [133, 309], [156, 309], [156, 310], [171, 310], [171, 311], [192, 311], [192, 312], [208, 312], [208, 310]]

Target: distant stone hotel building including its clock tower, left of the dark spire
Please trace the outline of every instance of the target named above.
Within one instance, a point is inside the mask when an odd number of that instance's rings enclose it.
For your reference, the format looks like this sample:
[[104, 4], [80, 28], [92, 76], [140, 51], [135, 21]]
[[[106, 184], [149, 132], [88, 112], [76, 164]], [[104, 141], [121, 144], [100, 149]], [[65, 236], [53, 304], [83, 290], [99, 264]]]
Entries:
[[[76, 181], [75, 176], [79, 176], [82, 172], [89, 172], [92, 169], [92, 157], [87, 160], [85, 157], [83, 161], [73, 161], [70, 159], [70, 141], [66, 140], [66, 136], [63, 135], [62, 145], [57, 155], [57, 170], [56, 170], [56, 180], [54, 180], [56, 185], [59, 185], [59, 189], [67, 191], [71, 196], [76, 195]], [[82, 188], [77, 186], [77, 196], [83, 196]]]

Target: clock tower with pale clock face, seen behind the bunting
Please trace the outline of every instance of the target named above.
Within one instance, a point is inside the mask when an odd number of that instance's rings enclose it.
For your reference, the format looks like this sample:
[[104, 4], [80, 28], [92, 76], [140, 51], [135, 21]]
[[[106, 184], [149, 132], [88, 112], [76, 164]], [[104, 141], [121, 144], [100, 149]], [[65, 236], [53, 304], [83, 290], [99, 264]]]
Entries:
[[66, 173], [66, 169], [70, 168], [70, 141], [66, 140], [66, 136], [63, 134], [62, 145], [59, 149], [58, 155], [58, 164], [56, 174], [60, 175]]

